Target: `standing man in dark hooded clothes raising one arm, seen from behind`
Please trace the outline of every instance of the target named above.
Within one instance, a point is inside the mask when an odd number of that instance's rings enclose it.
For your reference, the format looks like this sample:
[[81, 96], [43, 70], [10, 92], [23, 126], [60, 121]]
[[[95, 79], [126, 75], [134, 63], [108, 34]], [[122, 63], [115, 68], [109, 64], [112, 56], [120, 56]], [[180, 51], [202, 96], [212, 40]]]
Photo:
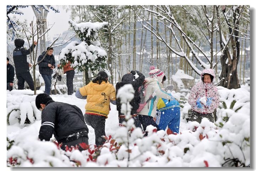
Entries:
[[23, 48], [24, 40], [22, 39], [15, 39], [14, 45], [16, 48], [13, 52], [13, 58], [16, 76], [18, 79], [18, 90], [24, 89], [25, 81], [27, 82], [30, 89], [34, 90], [34, 82], [29, 72], [29, 67], [31, 67], [32, 65], [27, 62], [27, 55], [33, 52], [34, 47], [36, 47], [37, 45], [37, 42], [34, 41], [30, 49]]

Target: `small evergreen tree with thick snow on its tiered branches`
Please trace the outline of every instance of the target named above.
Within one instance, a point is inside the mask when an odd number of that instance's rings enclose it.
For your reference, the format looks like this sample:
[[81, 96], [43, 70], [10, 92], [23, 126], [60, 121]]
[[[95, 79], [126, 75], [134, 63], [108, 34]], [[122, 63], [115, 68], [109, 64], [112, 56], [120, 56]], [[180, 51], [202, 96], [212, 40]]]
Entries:
[[73, 68], [85, 71], [86, 84], [89, 83], [88, 71], [92, 73], [105, 68], [106, 51], [98, 41], [98, 31], [107, 22], [82, 22], [76, 24], [69, 20], [70, 27], [77, 33], [81, 42], [73, 41], [69, 43], [60, 53], [60, 63], [65, 65], [71, 62]]

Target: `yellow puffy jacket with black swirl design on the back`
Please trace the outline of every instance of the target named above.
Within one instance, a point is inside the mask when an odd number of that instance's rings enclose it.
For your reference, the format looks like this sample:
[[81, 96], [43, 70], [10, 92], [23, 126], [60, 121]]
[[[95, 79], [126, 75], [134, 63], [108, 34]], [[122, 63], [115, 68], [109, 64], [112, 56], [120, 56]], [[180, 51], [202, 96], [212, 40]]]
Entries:
[[110, 110], [110, 100], [116, 100], [116, 90], [114, 86], [108, 81], [101, 82], [101, 84], [90, 82], [79, 89], [82, 96], [87, 96], [87, 103], [85, 105], [86, 114], [95, 114], [105, 116]]

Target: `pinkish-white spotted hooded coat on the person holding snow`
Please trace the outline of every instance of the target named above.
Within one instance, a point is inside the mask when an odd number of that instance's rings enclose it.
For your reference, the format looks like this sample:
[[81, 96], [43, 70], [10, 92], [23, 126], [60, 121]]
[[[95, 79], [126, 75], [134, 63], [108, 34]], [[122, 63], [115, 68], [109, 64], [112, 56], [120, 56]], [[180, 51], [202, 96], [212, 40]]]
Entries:
[[[210, 74], [215, 76], [213, 69], [204, 69], [201, 74]], [[212, 98], [212, 103], [209, 107], [202, 105], [203, 108], [198, 108], [196, 106], [196, 101], [199, 97], [209, 97]], [[219, 107], [219, 93], [217, 87], [213, 82], [206, 84], [203, 82], [203, 79], [194, 85], [191, 89], [190, 96], [188, 97], [188, 103], [191, 105], [191, 109], [198, 113], [213, 113], [216, 108]]]

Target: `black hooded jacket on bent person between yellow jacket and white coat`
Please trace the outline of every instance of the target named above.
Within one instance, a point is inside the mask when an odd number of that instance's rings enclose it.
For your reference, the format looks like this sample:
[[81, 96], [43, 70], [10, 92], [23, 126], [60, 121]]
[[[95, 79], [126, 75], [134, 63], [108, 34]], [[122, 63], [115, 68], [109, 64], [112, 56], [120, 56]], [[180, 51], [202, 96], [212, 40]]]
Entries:
[[[131, 74], [125, 74], [122, 77], [122, 81], [117, 82], [116, 95], [117, 95], [118, 90], [122, 86], [124, 86], [125, 84], [132, 84], [135, 93], [134, 93], [133, 100], [130, 101], [130, 105], [133, 107], [131, 114], [135, 114], [135, 113], [137, 113], [137, 109], [139, 108], [139, 103], [140, 103], [138, 88], [140, 86], [142, 86], [143, 81], [145, 80], [145, 76], [142, 73], [140, 73], [139, 71], [130, 71], [130, 73]], [[136, 73], [139, 75], [139, 77], [137, 79], [135, 79], [135, 76], [134, 76]], [[117, 105], [118, 114], [120, 115], [121, 114], [121, 103], [120, 103], [119, 98], [116, 99], [116, 105]]]

